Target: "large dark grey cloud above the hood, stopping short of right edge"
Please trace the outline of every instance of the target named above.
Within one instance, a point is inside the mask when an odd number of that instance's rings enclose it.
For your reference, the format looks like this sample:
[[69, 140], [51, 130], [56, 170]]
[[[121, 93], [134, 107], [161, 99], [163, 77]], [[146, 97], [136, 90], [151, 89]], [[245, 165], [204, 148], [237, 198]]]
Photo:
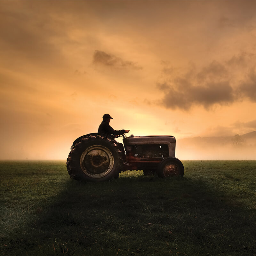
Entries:
[[[167, 69], [172, 70], [164, 67], [164, 74]], [[194, 65], [190, 65], [186, 73], [176, 76], [170, 74], [166, 76], [166, 81], [157, 85], [164, 92], [161, 104], [165, 108], [188, 110], [193, 105], [201, 105], [209, 109], [214, 104], [225, 105], [234, 101], [228, 70], [215, 60], [199, 72], [196, 72]]]

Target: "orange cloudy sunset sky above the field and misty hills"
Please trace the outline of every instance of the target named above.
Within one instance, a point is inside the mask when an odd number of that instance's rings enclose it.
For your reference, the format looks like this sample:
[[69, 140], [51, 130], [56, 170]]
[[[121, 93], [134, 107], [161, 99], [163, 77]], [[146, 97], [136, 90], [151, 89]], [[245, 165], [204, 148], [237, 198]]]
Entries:
[[105, 113], [135, 136], [255, 131], [255, 8], [0, 1], [0, 159], [66, 159]]

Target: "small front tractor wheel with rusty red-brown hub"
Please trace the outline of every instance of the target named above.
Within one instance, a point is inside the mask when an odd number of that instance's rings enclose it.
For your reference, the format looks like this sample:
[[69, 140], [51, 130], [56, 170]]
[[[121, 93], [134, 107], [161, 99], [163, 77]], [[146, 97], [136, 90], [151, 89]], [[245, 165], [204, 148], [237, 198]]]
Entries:
[[161, 178], [181, 176], [184, 175], [184, 166], [180, 160], [176, 157], [165, 158], [160, 162], [157, 170], [157, 174]]

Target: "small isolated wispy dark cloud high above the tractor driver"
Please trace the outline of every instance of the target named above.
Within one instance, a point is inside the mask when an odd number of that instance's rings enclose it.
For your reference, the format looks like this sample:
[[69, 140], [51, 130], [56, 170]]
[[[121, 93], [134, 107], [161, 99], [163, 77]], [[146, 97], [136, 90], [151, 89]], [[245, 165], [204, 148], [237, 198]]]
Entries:
[[94, 51], [92, 62], [96, 65], [103, 65], [111, 68], [131, 68], [136, 70], [142, 69], [142, 67], [137, 66], [135, 62], [123, 60], [113, 54], [109, 54], [99, 50]]

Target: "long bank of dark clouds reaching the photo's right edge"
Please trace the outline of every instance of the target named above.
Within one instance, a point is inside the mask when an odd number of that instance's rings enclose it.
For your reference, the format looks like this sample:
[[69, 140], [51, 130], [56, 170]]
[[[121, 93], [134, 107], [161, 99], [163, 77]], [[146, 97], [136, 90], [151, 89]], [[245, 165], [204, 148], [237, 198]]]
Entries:
[[241, 52], [221, 62], [213, 60], [199, 71], [194, 64], [183, 72], [169, 67], [168, 62], [162, 61], [162, 65], [162, 81], [156, 86], [164, 93], [158, 103], [165, 108], [189, 110], [198, 105], [209, 109], [216, 104], [227, 105], [244, 99], [256, 102], [253, 53]]

